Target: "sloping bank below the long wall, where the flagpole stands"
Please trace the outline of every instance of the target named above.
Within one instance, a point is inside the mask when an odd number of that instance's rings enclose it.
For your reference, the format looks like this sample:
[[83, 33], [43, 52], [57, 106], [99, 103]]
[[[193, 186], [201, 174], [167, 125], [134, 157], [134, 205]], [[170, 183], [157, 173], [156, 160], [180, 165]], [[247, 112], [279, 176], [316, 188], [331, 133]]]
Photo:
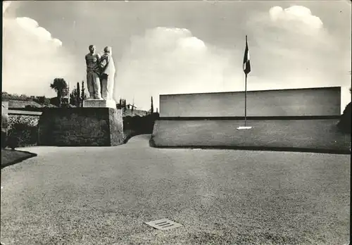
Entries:
[[248, 120], [251, 130], [237, 130], [244, 120], [158, 120], [151, 145], [350, 153], [351, 135], [339, 132], [338, 121]]

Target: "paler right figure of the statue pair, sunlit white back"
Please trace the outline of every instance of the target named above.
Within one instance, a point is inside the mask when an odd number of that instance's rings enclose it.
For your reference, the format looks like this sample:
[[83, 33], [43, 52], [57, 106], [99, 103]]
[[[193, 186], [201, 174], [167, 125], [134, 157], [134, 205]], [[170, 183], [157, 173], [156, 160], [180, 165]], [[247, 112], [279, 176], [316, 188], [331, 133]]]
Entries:
[[101, 56], [101, 96], [105, 100], [113, 100], [113, 86], [115, 77], [115, 64], [113, 63], [113, 51], [111, 46], [104, 48]]

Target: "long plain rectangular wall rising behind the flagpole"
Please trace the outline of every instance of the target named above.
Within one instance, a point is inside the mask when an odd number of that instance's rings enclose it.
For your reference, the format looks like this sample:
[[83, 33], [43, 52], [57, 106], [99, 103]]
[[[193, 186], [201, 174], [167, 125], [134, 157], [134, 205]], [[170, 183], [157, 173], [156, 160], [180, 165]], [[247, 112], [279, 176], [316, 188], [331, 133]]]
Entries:
[[[341, 115], [341, 87], [247, 92], [247, 116], [302, 115]], [[244, 116], [244, 92], [161, 95], [160, 116]]]

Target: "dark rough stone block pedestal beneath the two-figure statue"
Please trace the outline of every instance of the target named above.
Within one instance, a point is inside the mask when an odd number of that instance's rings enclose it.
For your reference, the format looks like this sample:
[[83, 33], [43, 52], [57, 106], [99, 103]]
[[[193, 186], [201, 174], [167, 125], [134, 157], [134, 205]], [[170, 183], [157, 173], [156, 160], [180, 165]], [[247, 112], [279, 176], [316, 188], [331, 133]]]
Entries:
[[116, 108], [46, 108], [38, 131], [41, 146], [117, 146], [124, 141], [122, 111]]

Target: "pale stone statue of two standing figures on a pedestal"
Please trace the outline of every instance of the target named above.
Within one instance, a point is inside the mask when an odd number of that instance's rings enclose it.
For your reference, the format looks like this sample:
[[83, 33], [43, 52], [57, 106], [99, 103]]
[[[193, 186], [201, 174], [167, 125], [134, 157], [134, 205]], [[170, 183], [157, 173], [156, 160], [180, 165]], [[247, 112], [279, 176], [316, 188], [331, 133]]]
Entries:
[[104, 54], [96, 54], [95, 45], [89, 45], [85, 56], [87, 64], [87, 88], [89, 99], [113, 100], [115, 64], [111, 46], [104, 48]]

